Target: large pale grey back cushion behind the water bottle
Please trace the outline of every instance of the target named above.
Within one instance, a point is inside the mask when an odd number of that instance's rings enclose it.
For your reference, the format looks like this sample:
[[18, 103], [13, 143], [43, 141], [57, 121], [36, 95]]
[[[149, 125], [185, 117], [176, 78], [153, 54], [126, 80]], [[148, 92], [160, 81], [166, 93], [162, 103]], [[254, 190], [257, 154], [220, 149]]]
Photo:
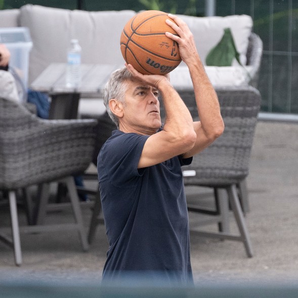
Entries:
[[66, 62], [70, 39], [82, 48], [82, 63], [124, 65], [120, 34], [134, 11], [86, 12], [37, 5], [21, 7], [20, 25], [28, 27], [33, 41], [29, 82], [52, 62]]

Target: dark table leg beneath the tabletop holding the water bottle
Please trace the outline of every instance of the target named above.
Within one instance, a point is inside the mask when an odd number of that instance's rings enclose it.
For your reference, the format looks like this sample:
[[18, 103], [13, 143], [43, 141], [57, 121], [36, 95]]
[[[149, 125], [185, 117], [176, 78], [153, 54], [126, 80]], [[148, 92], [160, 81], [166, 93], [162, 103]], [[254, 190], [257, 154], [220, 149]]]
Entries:
[[49, 119], [76, 119], [79, 98], [79, 93], [52, 95]]

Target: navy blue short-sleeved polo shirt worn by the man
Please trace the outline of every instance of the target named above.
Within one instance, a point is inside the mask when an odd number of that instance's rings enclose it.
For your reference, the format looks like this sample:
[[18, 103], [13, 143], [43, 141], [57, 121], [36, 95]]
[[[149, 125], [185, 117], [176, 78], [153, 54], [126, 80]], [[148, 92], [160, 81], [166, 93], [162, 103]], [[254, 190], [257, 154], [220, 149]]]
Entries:
[[[125, 273], [192, 284], [189, 223], [176, 156], [138, 169], [149, 136], [113, 131], [98, 156], [98, 177], [109, 242], [103, 281]], [[156, 275], [155, 275], [156, 273]]]

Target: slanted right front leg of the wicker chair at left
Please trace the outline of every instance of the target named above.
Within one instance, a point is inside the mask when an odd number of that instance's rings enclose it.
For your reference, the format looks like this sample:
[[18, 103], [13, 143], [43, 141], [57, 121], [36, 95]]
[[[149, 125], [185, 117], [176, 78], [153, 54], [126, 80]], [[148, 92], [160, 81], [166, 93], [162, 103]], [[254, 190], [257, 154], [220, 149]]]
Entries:
[[74, 183], [74, 178], [67, 177], [64, 179], [64, 181], [68, 188], [71, 206], [72, 206], [72, 210], [74, 213], [74, 218], [75, 218], [76, 224], [78, 226], [78, 233], [79, 233], [79, 237], [81, 240], [82, 248], [84, 251], [87, 251], [89, 249], [89, 244], [88, 244], [87, 235], [86, 235], [86, 232], [85, 232], [84, 226], [83, 226], [83, 218], [82, 218], [82, 214], [81, 214], [79, 198], [78, 198], [75, 183]]

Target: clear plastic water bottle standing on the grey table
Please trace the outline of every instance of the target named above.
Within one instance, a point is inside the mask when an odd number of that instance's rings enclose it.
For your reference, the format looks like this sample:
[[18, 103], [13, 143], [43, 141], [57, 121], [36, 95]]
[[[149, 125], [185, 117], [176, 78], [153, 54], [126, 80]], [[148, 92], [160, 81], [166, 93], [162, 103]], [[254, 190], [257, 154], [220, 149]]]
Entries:
[[81, 47], [77, 39], [71, 39], [70, 44], [67, 51], [66, 87], [75, 88], [81, 79]]

